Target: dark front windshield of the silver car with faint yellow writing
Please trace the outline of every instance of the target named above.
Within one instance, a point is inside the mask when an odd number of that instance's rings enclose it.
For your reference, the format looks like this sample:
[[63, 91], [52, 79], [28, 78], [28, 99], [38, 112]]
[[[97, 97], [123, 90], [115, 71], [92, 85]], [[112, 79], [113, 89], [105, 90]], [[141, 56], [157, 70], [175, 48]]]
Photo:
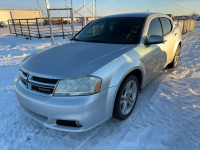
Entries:
[[137, 44], [144, 18], [102, 18], [87, 25], [72, 40], [96, 43]]

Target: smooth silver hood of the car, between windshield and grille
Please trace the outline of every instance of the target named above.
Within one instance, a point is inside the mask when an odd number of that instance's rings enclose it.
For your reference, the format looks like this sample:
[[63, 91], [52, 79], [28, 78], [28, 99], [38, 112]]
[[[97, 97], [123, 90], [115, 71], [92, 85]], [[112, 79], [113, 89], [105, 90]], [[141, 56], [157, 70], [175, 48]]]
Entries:
[[69, 42], [40, 51], [23, 61], [20, 68], [41, 77], [63, 79], [90, 75], [135, 45]]

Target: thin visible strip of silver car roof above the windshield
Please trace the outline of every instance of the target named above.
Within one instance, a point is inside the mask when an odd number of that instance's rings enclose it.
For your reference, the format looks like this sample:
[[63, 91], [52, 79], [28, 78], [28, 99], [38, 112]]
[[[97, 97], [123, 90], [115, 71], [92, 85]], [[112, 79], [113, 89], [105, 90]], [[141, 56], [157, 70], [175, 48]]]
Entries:
[[105, 17], [101, 17], [101, 18], [114, 18], [114, 17], [146, 17], [149, 15], [164, 15], [165, 14], [161, 14], [161, 13], [150, 13], [150, 12], [138, 12], [138, 13], [124, 13], [124, 14], [116, 14], [116, 15], [109, 15], [109, 16], [105, 16]]

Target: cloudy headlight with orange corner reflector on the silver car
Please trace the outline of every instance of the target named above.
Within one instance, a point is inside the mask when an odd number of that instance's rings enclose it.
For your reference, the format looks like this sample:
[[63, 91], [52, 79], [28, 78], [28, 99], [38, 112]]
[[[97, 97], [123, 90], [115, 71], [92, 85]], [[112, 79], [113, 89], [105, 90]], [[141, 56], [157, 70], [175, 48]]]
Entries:
[[54, 96], [90, 95], [99, 92], [101, 78], [86, 76], [60, 80]]

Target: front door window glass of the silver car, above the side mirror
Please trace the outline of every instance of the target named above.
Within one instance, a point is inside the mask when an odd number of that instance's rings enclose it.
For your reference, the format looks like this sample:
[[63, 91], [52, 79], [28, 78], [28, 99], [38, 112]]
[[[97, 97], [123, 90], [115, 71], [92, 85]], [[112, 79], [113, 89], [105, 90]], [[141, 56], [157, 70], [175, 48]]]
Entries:
[[155, 18], [155, 19], [151, 20], [151, 22], [150, 22], [149, 30], [147, 33], [147, 38], [149, 38], [151, 35], [163, 36], [162, 26], [161, 26], [160, 20], [158, 18]]

